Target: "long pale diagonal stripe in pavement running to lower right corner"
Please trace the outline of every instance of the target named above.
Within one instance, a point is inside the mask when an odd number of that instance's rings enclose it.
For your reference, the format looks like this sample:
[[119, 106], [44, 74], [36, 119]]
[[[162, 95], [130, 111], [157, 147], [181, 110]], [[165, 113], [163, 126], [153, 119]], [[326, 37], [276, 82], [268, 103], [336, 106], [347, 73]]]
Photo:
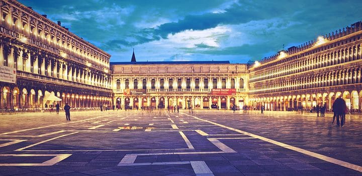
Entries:
[[228, 126], [225, 126], [225, 125], [221, 125], [221, 124], [218, 124], [216, 122], [201, 119], [199, 117], [192, 116], [192, 115], [189, 115], [189, 114], [186, 114], [186, 113], [182, 113], [182, 114], [185, 114], [187, 116], [193, 117], [195, 119], [198, 119], [198, 120], [201, 120], [201, 121], [204, 121], [204, 122], [208, 122], [208, 123], [217, 125], [219, 127], [223, 127], [223, 128], [226, 128], [226, 129], [229, 129], [229, 130], [232, 130], [232, 131], [236, 131], [238, 133], [249, 135], [251, 137], [255, 137], [257, 139], [267, 141], [269, 143], [279, 145], [281, 147], [288, 148], [288, 149], [291, 149], [291, 150], [294, 150], [294, 151], [297, 151], [297, 152], [300, 152], [300, 153], [303, 153], [303, 154], [306, 154], [306, 155], [309, 155], [309, 156], [312, 156], [312, 157], [316, 157], [318, 159], [322, 159], [322, 160], [325, 160], [325, 161], [328, 161], [328, 162], [331, 162], [331, 163], [334, 163], [334, 164], [338, 164], [338, 165], [343, 166], [343, 167], [347, 167], [347, 168], [362, 172], [362, 166], [359, 166], [359, 165], [356, 165], [356, 164], [352, 164], [352, 163], [345, 162], [345, 161], [342, 161], [342, 160], [339, 160], [339, 159], [335, 159], [335, 158], [332, 158], [332, 157], [329, 157], [329, 156], [325, 156], [325, 155], [322, 155], [322, 154], [319, 154], [319, 153], [308, 151], [308, 150], [305, 150], [305, 149], [302, 149], [302, 148], [299, 148], [299, 147], [295, 147], [295, 146], [288, 145], [288, 144], [285, 144], [285, 143], [282, 143], [282, 142], [278, 142], [278, 141], [275, 141], [275, 140], [272, 140], [272, 139], [269, 139], [269, 138], [266, 138], [266, 137], [262, 137], [262, 136], [259, 136], [259, 135], [256, 135], [256, 134], [246, 132], [246, 131], [242, 131], [242, 130], [235, 129], [235, 128], [232, 128], [232, 127], [228, 127]]

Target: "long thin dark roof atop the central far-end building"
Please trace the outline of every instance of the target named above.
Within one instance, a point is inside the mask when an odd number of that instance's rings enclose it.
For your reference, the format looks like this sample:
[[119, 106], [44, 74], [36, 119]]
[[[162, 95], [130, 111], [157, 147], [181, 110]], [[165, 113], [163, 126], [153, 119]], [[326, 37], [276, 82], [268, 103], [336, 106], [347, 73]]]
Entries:
[[111, 65], [136, 64], [229, 64], [229, 61], [151, 61], [151, 62], [110, 62]]

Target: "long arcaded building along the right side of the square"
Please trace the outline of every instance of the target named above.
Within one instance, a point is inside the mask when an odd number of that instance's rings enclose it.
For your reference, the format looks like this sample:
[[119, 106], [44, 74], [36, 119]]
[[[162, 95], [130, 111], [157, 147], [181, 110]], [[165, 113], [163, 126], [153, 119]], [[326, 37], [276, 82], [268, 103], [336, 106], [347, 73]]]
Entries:
[[332, 108], [341, 97], [347, 108], [362, 104], [362, 23], [280, 51], [249, 68], [250, 105], [269, 110]]

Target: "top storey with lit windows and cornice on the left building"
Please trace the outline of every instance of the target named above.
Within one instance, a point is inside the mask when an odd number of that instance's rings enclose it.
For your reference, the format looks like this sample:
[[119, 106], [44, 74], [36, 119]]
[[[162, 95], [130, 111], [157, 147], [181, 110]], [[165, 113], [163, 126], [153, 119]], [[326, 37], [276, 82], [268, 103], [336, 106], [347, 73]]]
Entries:
[[101, 64], [109, 68], [109, 55], [92, 45], [85, 43], [82, 39], [74, 37], [60, 25], [49, 23], [50, 20], [28, 12], [26, 7], [19, 3], [5, 3], [0, 8], [0, 24], [12, 31], [22, 34], [22, 40], [29, 42], [32, 39], [47, 45], [47, 49], [55, 48], [71, 53], [76, 57], [82, 58], [94, 64]]

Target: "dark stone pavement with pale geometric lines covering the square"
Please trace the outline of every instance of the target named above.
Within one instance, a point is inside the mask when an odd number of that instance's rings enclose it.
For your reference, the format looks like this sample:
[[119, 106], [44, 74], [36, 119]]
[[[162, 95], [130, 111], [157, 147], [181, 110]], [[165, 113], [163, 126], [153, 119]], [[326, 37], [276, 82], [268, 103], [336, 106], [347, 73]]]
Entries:
[[362, 175], [362, 116], [181, 110], [0, 116], [0, 175]]

